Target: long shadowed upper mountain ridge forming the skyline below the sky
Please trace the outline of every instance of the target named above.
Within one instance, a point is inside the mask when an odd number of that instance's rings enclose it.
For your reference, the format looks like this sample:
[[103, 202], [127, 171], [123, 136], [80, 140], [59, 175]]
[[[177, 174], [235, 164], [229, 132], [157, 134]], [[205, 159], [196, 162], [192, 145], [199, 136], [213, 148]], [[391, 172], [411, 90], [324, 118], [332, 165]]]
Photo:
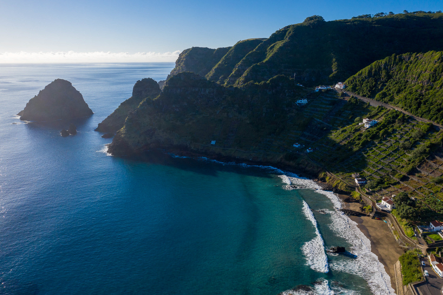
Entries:
[[[303, 23], [276, 31], [255, 48], [255, 43], [247, 44], [247, 40], [238, 42], [229, 51], [226, 47], [225, 57], [209, 48], [184, 50], [169, 77], [191, 71], [219, 84], [243, 85], [249, 81], [267, 81], [279, 74], [291, 77], [295, 74], [295, 81], [306, 86], [333, 84], [392, 54], [443, 50], [442, 35], [443, 13], [329, 22], [314, 15]], [[244, 51], [234, 48], [242, 46]], [[253, 49], [247, 52], [250, 48]], [[238, 56], [233, 54], [234, 50]], [[237, 63], [232, 68], [228, 61]]]

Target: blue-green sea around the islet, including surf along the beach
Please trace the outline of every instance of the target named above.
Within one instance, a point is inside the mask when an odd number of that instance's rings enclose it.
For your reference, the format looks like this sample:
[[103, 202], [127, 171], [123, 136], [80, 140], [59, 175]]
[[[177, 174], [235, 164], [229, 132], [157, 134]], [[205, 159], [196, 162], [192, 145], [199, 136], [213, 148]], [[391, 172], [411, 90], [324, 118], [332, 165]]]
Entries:
[[[137, 80], [173, 67], [0, 65], [0, 294], [392, 294], [369, 240], [311, 180], [161, 150], [106, 153], [97, 124]], [[20, 121], [57, 78], [94, 114]], [[78, 134], [63, 138], [70, 123]], [[326, 254], [337, 245], [349, 253]]]

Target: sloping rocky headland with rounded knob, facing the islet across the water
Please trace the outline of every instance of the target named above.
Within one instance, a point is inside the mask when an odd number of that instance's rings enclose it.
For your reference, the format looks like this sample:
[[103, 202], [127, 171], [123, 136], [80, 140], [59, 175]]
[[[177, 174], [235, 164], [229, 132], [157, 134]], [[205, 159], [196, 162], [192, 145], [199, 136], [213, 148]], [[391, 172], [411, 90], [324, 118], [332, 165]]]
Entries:
[[120, 106], [104, 119], [103, 122], [98, 123], [95, 131], [110, 132], [120, 130], [124, 125], [124, 120], [128, 116], [128, 112], [135, 110], [145, 98], [150, 97], [153, 99], [159, 94], [160, 87], [155, 80], [151, 78], [138, 80], [132, 88], [132, 96], [120, 103]]

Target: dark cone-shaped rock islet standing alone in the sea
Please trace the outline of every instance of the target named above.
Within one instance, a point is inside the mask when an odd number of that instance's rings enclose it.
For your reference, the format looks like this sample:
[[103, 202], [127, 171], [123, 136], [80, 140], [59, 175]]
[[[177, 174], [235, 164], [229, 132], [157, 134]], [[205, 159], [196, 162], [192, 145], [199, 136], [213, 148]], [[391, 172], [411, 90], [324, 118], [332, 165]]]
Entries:
[[72, 86], [71, 82], [56, 79], [40, 90], [37, 96], [26, 104], [20, 120], [52, 121], [72, 119], [92, 115], [93, 111], [83, 100], [83, 96]]

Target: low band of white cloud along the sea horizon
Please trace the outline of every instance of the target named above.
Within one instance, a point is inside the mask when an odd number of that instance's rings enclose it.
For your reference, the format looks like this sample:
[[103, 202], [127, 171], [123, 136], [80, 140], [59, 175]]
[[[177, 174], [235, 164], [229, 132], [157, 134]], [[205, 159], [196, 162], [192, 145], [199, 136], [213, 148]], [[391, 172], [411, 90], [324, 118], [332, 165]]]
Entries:
[[0, 64], [5, 63], [69, 63], [69, 62], [149, 62], [175, 61], [180, 50], [174, 52], [3, 52], [0, 53]]

